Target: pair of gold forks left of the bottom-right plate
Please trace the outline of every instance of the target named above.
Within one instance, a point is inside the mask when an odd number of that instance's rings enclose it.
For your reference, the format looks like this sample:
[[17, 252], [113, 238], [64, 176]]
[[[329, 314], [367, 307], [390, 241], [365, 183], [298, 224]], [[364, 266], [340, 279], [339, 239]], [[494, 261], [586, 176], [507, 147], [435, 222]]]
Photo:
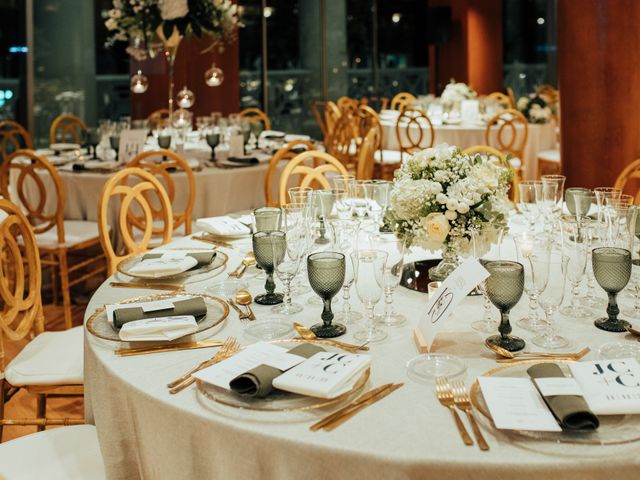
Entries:
[[458, 433], [460, 434], [464, 444], [467, 446], [473, 445], [473, 439], [469, 435], [464, 423], [462, 423], [462, 419], [460, 418], [460, 415], [458, 415], [458, 410], [463, 411], [467, 415], [467, 419], [471, 424], [473, 434], [476, 437], [480, 450], [489, 450], [489, 445], [484, 439], [476, 419], [473, 416], [471, 400], [469, 399], [469, 394], [467, 389], [464, 387], [464, 384], [461, 381], [449, 383], [445, 377], [438, 377], [436, 378], [436, 397], [438, 398], [438, 401], [451, 412], [456, 427], [458, 428]]

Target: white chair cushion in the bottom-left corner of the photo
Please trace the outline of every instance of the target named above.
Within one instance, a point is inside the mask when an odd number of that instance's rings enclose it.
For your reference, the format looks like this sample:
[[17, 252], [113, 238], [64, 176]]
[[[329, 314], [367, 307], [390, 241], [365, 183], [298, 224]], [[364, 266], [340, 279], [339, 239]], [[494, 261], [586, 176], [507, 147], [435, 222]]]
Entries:
[[0, 443], [0, 478], [106, 478], [96, 427], [77, 425], [53, 428]]

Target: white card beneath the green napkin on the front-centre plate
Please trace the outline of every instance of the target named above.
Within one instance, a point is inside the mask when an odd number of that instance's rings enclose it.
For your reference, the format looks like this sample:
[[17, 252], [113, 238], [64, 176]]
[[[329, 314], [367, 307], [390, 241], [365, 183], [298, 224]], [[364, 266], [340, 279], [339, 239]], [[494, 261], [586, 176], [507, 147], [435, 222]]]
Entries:
[[229, 382], [260, 365], [288, 370], [305, 360], [287, 353], [287, 349], [266, 342], [257, 342], [232, 357], [194, 373], [192, 376], [205, 383], [229, 390]]

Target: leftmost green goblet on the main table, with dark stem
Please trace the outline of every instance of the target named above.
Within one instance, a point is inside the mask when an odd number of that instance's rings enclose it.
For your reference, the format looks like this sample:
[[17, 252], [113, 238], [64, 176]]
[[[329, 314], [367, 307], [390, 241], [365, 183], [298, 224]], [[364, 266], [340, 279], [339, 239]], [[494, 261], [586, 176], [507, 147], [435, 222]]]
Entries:
[[282, 303], [283, 295], [274, 293], [276, 284], [273, 281], [273, 268], [274, 264], [282, 262], [284, 258], [287, 247], [285, 233], [280, 231], [256, 232], [251, 240], [256, 262], [267, 275], [267, 281], [264, 285], [266, 293], [258, 295], [255, 302], [260, 305]]

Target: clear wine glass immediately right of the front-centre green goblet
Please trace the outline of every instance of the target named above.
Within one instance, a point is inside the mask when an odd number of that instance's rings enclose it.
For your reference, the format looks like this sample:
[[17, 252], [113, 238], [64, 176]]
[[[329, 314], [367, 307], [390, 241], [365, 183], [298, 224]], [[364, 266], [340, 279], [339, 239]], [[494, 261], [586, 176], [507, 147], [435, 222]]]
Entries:
[[387, 254], [384, 268], [384, 313], [377, 315], [376, 321], [387, 326], [402, 325], [407, 319], [394, 311], [393, 294], [402, 277], [405, 242], [394, 233], [381, 233], [372, 237], [372, 247]]

